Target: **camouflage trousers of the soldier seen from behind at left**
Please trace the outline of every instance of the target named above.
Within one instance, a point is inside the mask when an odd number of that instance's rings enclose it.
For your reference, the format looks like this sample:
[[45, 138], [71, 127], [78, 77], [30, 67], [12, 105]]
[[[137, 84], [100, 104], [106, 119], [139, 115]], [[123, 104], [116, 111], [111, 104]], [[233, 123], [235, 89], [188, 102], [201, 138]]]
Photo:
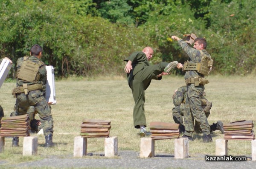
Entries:
[[[51, 114], [51, 107], [43, 96], [41, 90], [30, 91], [28, 95], [24, 93], [16, 94], [15, 111], [11, 116], [26, 114], [30, 106], [35, 107], [35, 111], [38, 112], [38, 116], [41, 121], [41, 127], [44, 130], [44, 135], [53, 133], [53, 119]], [[29, 119], [31, 119], [29, 115]]]

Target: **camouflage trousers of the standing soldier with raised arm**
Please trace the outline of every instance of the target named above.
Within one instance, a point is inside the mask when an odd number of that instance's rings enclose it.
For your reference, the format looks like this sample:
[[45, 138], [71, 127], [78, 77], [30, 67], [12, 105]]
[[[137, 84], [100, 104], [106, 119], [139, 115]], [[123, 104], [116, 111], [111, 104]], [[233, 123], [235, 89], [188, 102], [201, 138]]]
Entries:
[[194, 119], [198, 122], [203, 134], [210, 134], [210, 127], [201, 103], [204, 93], [204, 85], [187, 85], [187, 97], [184, 107], [184, 124], [186, 132], [184, 135], [192, 136], [194, 131]]

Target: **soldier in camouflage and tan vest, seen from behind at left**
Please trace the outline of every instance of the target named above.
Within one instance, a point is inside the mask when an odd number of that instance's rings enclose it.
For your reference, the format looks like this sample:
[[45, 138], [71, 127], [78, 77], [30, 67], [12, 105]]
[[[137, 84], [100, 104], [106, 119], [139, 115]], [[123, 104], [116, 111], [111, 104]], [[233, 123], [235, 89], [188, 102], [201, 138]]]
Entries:
[[[12, 93], [17, 99], [11, 116], [26, 114], [29, 107], [34, 106], [44, 130], [45, 146], [51, 147], [55, 145], [52, 142], [53, 119], [51, 107], [45, 99], [47, 71], [44, 62], [40, 61], [41, 46], [33, 45], [30, 55], [17, 60], [17, 87]], [[13, 138], [13, 146], [18, 146], [18, 137]]]

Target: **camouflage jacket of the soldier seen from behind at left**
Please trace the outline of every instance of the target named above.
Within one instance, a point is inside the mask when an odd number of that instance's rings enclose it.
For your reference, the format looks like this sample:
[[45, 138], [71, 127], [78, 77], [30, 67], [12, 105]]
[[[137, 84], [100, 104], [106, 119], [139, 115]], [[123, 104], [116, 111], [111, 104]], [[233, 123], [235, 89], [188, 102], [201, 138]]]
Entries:
[[[35, 62], [35, 63], [38, 63], [40, 60], [36, 57], [36, 56], [30, 56], [28, 58], [28, 60], [32, 61], [32, 62]], [[23, 63], [23, 57], [20, 57], [18, 60], [17, 60], [17, 70], [19, 70], [21, 68], [21, 65]], [[17, 78], [17, 83], [16, 83], [16, 86], [17, 87], [22, 87], [23, 83], [27, 83], [28, 85], [35, 85], [35, 84], [41, 84], [43, 86], [42, 90], [45, 94], [45, 91], [46, 91], [46, 83], [47, 83], [47, 71], [46, 71], [46, 68], [45, 68], [45, 65], [41, 66], [39, 68], [39, 74], [40, 74], [40, 79], [39, 81], [37, 82], [26, 82], [26, 81], [23, 81], [23, 80], [20, 80]]]

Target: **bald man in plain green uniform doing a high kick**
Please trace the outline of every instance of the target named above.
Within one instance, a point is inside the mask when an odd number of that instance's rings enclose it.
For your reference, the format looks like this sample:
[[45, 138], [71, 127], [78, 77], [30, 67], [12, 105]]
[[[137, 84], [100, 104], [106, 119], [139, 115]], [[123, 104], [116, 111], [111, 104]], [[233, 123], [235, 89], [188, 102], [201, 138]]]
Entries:
[[150, 85], [152, 79], [161, 80], [163, 75], [167, 75], [172, 68], [177, 67], [178, 62], [171, 63], [160, 62], [157, 65], [150, 65], [154, 51], [150, 47], [145, 47], [143, 51], [137, 51], [131, 54], [124, 61], [125, 72], [128, 77], [128, 85], [131, 88], [134, 98], [134, 127], [140, 129], [140, 136], [146, 134], [146, 118], [144, 113], [145, 90]]

